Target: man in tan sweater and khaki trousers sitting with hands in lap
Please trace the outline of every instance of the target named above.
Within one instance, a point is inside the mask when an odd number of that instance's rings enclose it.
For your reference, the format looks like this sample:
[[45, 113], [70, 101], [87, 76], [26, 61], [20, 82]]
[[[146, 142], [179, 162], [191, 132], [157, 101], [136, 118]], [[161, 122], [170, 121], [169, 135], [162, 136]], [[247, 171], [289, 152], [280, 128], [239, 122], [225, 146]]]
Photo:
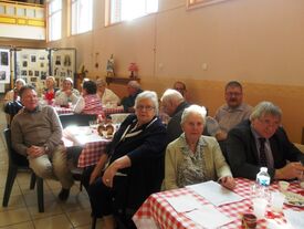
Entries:
[[23, 86], [20, 96], [24, 108], [11, 124], [12, 147], [28, 157], [30, 167], [39, 177], [57, 179], [62, 185], [59, 198], [66, 200], [73, 178], [66, 166], [57, 114], [51, 106], [39, 105], [36, 92], [31, 85]]

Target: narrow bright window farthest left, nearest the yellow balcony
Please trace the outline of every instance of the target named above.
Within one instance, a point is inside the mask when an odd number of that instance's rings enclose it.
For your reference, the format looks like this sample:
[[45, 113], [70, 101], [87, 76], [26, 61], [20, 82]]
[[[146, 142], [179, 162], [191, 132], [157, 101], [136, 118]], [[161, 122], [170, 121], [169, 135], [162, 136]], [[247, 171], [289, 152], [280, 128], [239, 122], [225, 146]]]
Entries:
[[62, 0], [51, 0], [48, 8], [49, 41], [61, 39]]

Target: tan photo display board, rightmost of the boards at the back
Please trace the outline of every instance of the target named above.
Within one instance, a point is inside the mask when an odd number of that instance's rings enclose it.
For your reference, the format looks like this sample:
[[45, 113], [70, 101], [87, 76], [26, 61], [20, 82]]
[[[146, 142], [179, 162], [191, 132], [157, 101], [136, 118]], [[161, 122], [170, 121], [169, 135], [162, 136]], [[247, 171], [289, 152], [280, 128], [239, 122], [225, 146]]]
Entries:
[[51, 50], [52, 73], [57, 81], [57, 85], [62, 84], [65, 77], [74, 80], [76, 72], [76, 50], [75, 49], [54, 49]]

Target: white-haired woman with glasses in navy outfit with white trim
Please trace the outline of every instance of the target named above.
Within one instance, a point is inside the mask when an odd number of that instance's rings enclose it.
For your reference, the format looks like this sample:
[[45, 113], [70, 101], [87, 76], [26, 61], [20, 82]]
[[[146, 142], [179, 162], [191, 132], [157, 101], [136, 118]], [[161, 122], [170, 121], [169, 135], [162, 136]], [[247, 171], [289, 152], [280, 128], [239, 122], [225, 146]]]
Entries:
[[150, 194], [160, 189], [166, 128], [157, 114], [157, 94], [151, 91], [138, 94], [135, 114], [122, 123], [91, 174], [92, 215], [103, 217], [107, 229], [115, 228], [115, 209], [136, 210]]

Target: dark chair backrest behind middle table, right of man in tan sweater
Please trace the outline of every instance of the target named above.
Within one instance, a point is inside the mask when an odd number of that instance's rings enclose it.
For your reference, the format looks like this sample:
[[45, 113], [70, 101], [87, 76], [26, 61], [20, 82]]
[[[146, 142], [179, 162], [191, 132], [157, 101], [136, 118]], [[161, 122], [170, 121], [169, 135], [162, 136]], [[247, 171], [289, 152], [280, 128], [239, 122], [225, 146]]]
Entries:
[[66, 126], [88, 126], [90, 121], [96, 121], [97, 115], [90, 114], [61, 114], [59, 115], [63, 128]]

